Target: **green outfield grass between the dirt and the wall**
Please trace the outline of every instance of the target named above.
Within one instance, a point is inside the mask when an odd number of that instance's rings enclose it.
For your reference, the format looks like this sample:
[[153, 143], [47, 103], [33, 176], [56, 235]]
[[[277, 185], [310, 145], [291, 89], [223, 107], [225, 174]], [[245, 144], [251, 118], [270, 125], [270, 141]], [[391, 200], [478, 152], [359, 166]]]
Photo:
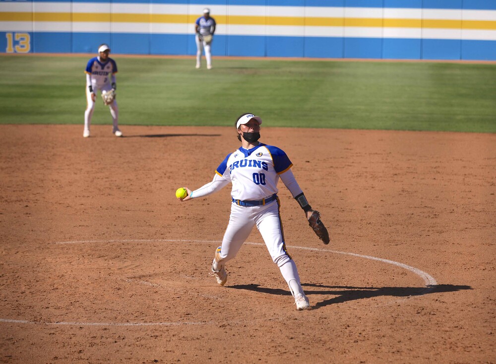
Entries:
[[[496, 64], [115, 58], [121, 124], [496, 132]], [[82, 124], [88, 57], [0, 57], [0, 123]], [[98, 99], [93, 123], [108, 124]]]

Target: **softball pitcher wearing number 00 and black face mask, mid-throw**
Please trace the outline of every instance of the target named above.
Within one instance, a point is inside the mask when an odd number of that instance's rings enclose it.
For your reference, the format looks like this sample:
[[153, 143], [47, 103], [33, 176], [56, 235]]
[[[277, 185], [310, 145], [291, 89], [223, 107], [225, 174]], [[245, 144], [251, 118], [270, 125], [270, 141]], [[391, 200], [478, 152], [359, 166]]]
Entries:
[[236, 256], [253, 226], [256, 226], [272, 260], [289, 286], [296, 308], [309, 309], [310, 303], [303, 292], [298, 269], [286, 249], [279, 214], [281, 204], [277, 197], [279, 179], [305, 211], [307, 219], [313, 210], [291, 172], [293, 164], [286, 153], [258, 141], [261, 123], [262, 119], [253, 114], [241, 115], [236, 121], [241, 148], [227, 155], [217, 167], [212, 182], [194, 191], [185, 187], [188, 195], [179, 200], [189, 201], [206, 196], [231, 182], [231, 216], [222, 245], [216, 249], [212, 263], [212, 272], [217, 283], [221, 286], [226, 283], [226, 263]]

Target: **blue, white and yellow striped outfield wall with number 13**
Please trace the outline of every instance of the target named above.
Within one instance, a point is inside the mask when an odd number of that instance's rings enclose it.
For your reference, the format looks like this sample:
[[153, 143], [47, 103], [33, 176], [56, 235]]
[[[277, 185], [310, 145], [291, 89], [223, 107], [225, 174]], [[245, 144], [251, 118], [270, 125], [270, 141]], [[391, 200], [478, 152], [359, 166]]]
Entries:
[[496, 0], [0, 0], [0, 52], [496, 61]]

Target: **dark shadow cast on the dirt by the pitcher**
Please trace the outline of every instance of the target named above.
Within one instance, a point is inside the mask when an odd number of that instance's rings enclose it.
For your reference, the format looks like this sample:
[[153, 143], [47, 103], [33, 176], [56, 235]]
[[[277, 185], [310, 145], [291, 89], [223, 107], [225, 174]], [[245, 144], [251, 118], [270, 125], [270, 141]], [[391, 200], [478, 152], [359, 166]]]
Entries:
[[[451, 284], [441, 284], [436, 286], [426, 287], [349, 287], [349, 286], [324, 286], [319, 284], [306, 284], [305, 294], [311, 295], [329, 295], [335, 296], [328, 300], [311, 304], [312, 308], [320, 308], [329, 304], [343, 303], [347, 301], [362, 300], [372, 297], [409, 297], [409, 296], [422, 296], [426, 294], [439, 293], [439, 292], [456, 292], [461, 290], [471, 290], [470, 286], [455, 286]], [[318, 288], [312, 290], [311, 288]], [[229, 286], [238, 290], [248, 290], [260, 293], [267, 293], [270, 295], [291, 295], [289, 291], [273, 288], [259, 287], [257, 284], [235, 285]]]

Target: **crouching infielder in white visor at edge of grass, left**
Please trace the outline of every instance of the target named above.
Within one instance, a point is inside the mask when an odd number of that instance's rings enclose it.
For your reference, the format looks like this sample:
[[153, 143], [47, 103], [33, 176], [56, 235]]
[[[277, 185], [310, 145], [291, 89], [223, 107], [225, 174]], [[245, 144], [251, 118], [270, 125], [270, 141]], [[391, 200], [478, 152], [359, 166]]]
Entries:
[[[108, 92], [116, 89], [117, 63], [109, 57], [110, 48], [106, 44], [98, 48], [98, 57], [93, 57], [86, 65], [86, 111], [84, 112], [84, 131], [83, 137], [90, 136], [91, 117], [95, 110], [96, 93]], [[123, 136], [119, 130], [119, 108], [117, 101], [109, 105], [110, 115], [112, 115], [112, 133], [115, 136]]]

